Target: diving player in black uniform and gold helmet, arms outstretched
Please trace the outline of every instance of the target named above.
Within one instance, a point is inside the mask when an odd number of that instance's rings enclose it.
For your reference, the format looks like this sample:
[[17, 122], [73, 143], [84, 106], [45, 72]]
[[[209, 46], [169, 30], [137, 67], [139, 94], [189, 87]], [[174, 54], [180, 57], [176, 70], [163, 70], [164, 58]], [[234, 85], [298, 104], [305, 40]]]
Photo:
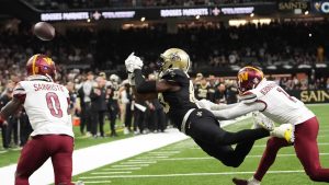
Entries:
[[[182, 49], [170, 48], [161, 54], [161, 59], [159, 81], [144, 79], [143, 61], [134, 53], [125, 60], [129, 81], [135, 86], [136, 97], [140, 100], [159, 97], [164, 112], [177, 128], [225, 165], [239, 166], [254, 140], [268, 137], [270, 132], [283, 137], [286, 130], [274, 128], [275, 131], [269, 131], [264, 125], [238, 132], [224, 130], [209, 111], [198, 108], [196, 104], [193, 83], [186, 73], [190, 67], [189, 55]], [[271, 125], [271, 127], [274, 126]], [[234, 149], [230, 144], [235, 143], [238, 144]]]

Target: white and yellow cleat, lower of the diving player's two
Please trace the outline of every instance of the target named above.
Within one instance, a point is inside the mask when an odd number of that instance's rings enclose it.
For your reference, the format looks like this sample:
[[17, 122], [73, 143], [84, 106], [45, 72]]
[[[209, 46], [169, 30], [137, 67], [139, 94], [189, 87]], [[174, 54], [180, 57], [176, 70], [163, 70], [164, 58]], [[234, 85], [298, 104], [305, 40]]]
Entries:
[[271, 131], [271, 136], [283, 138], [288, 143], [293, 143], [295, 141], [295, 127], [292, 124], [283, 124], [279, 127], [275, 127], [273, 131]]

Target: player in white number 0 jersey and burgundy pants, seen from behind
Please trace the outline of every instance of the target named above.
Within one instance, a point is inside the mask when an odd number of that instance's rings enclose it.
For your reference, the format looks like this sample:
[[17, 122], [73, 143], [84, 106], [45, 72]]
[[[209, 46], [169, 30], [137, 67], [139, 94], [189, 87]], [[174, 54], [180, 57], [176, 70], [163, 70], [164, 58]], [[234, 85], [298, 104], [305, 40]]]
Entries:
[[52, 158], [55, 184], [72, 185], [73, 131], [69, 115], [69, 92], [54, 83], [54, 61], [34, 55], [26, 63], [27, 80], [14, 89], [13, 99], [0, 112], [8, 118], [24, 106], [33, 127], [32, 139], [24, 146], [15, 172], [15, 185], [29, 185], [29, 177]]

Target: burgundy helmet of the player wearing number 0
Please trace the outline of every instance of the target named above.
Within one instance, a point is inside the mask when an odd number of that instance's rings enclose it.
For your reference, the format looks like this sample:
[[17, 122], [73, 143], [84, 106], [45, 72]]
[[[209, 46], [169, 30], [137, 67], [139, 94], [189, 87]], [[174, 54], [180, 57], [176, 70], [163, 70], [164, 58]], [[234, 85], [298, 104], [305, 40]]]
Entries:
[[26, 71], [27, 76], [49, 76], [53, 80], [56, 76], [55, 62], [52, 58], [42, 54], [36, 54], [29, 59]]

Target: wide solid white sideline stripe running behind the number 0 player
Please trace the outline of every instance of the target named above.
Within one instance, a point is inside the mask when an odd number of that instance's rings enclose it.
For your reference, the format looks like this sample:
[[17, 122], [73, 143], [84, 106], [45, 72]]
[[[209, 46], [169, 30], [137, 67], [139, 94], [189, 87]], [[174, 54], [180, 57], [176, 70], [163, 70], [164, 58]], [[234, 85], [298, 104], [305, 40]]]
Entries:
[[[189, 138], [177, 129], [168, 129], [163, 134], [140, 135], [133, 138], [116, 140], [113, 142], [97, 144], [93, 147], [75, 150], [73, 152], [73, 175], [88, 172], [106, 164], [125, 160], [140, 153], [181, 141]], [[16, 164], [0, 167], [0, 184], [14, 184], [14, 172]], [[30, 178], [33, 185], [45, 185], [54, 183], [54, 170], [48, 160]]]

